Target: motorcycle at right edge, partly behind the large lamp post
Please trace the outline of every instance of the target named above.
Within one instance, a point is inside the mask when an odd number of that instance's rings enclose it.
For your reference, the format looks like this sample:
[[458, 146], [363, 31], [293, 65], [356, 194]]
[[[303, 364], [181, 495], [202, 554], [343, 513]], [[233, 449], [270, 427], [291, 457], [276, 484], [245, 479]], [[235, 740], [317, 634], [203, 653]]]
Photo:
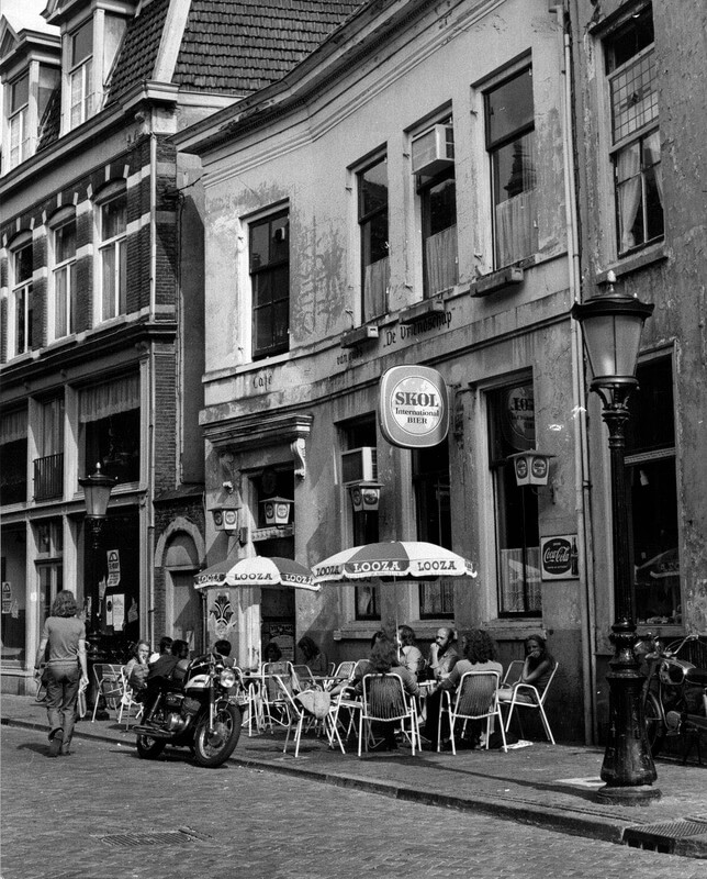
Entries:
[[651, 754], [655, 757], [666, 737], [683, 736], [686, 749], [695, 736], [699, 754], [699, 736], [707, 733], [707, 669], [698, 668], [678, 654], [697, 635], [686, 635], [681, 642], [665, 646], [648, 634], [635, 650], [647, 664], [643, 685], [643, 717]]

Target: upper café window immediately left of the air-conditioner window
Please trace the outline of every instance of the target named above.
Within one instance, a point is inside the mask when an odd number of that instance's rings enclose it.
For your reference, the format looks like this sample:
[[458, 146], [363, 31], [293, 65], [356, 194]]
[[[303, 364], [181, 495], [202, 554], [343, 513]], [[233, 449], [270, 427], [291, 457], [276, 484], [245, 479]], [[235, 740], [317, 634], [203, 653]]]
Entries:
[[385, 314], [390, 281], [388, 244], [388, 158], [358, 174], [363, 321]]

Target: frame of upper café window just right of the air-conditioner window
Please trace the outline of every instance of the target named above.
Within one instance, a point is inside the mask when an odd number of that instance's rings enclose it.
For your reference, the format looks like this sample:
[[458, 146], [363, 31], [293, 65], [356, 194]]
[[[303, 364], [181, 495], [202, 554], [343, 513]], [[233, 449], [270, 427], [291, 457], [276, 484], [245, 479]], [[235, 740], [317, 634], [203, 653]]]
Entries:
[[[492, 136], [492, 123], [491, 123], [491, 115], [492, 115], [492, 108], [491, 108], [491, 96], [494, 92], [497, 92], [501, 88], [508, 85], [515, 79], [520, 79], [525, 74], [530, 74], [530, 85], [531, 85], [531, 93], [532, 93], [532, 114], [529, 121], [526, 121], [515, 129], [507, 131], [506, 133], [498, 135], [496, 137]], [[510, 202], [510, 198], [497, 200], [497, 193], [501, 189], [500, 181], [497, 180], [498, 177], [498, 158], [501, 156], [502, 151], [506, 149], [508, 146], [514, 145], [515, 143], [520, 142], [521, 140], [532, 135], [531, 142], [531, 163], [530, 169], [531, 174], [535, 176], [535, 132], [536, 132], [536, 122], [535, 122], [535, 93], [532, 89], [534, 82], [534, 66], [532, 59], [530, 57], [525, 57], [523, 60], [518, 62], [516, 65], [513, 66], [512, 69], [504, 70], [502, 76], [494, 78], [493, 81], [485, 84], [482, 90], [483, 97], [483, 114], [484, 114], [484, 145], [485, 152], [489, 162], [489, 179], [490, 179], [490, 199], [491, 199], [491, 229], [492, 229], [492, 249], [493, 249], [493, 267], [494, 269], [501, 269], [506, 266], [516, 265], [521, 263], [526, 259], [531, 259], [538, 251], [538, 218], [537, 218], [537, 203], [535, 204], [534, 211], [531, 216], [528, 218], [528, 222], [530, 223], [529, 232], [528, 232], [528, 253], [525, 254], [517, 254], [514, 253], [508, 256], [508, 258], [504, 258], [501, 254], [501, 233], [500, 233], [500, 223], [498, 223], [498, 207], [501, 204]], [[537, 178], [535, 179], [534, 186], [524, 188], [519, 190], [516, 194], [523, 193], [530, 193], [537, 192]]]

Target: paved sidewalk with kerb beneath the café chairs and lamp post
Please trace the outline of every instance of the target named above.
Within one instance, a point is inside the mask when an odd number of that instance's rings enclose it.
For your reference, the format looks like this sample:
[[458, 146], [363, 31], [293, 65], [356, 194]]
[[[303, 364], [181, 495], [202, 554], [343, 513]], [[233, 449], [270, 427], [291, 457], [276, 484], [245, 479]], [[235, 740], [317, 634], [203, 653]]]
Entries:
[[[2, 696], [2, 723], [46, 731], [46, 711], [31, 697]], [[81, 738], [134, 746], [134, 735], [114, 716], [76, 726]], [[694, 858], [707, 858], [707, 767], [656, 764], [662, 798], [646, 806], [607, 805], [596, 799], [602, 786], [603, 750], [582, 745], [549, 745], [501, 750], [423, 752], [407, 748], [358, 759], [351, 739], [348, 753], [329, 750], [326, 739], [302, 737], [300, 756], [282, 753], [284, 733], [248, 737], [244, 728], [232, 761], [250, 768], [301, 775], [340, 787], [415, 800], [430, 805], [475, 811], [549, 830], [629, 843]], [[187, 754], [187, 752], [183, 752]], [[207, 771], [207, 770], [205, 770]]]

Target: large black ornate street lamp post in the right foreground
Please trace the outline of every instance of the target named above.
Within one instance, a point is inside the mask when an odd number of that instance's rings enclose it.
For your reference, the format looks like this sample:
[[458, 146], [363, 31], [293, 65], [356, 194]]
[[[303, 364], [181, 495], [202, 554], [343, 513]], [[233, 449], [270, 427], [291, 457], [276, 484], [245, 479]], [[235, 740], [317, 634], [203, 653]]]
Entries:
[[592, 297], [572, 308], [582, 324], [592, 380], [590, 389], [602, 399], [602, 418], [609, 431], [611, 467], [611, 538], [614, 554], [614, 657], [606, 676], [609, 685], [609, 734], [602, 765], [604, 801], [643, 804], [661, 795], [652, 783], [655, 766], [646, 736], [640, 665], [636, 643], [635, 589], [626, 508], [625, 429], [630, 416], [628, 399], [638, 387], [636, 365], [646, 319], [653, 304], [617, 293], [609, 272], [607, 294]]

